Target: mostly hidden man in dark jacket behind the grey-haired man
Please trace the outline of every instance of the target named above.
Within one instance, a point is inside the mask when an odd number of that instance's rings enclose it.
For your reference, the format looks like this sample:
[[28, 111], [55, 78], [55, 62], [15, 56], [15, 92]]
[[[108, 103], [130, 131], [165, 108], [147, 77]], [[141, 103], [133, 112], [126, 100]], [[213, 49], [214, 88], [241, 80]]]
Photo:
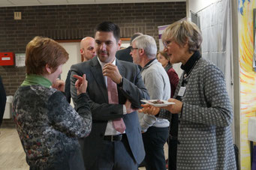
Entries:
[[131, 42], [134, 40], [135, 37], [139, 37], [142, 35], [140, 32], [135, 33], [130, 40], [130, 46], [128, 46], [126, 49], [120, 49], [119, 51], [116, 52], [116, 58], [122, 61], [128, 61], [128, 62], [133, 62], [134, 60], [132, 59], [130, 52], [131, 52]]

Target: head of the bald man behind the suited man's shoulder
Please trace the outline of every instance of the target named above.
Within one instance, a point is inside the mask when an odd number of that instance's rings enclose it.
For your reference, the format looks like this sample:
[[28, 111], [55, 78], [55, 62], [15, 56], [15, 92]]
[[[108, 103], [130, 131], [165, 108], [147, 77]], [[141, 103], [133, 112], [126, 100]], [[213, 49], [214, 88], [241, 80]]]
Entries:
[[83, 61], [89, 61], [95, 57], [95, 39], [93, 37], [84, 37], [81, 40], [80, 53], [83, 56]]

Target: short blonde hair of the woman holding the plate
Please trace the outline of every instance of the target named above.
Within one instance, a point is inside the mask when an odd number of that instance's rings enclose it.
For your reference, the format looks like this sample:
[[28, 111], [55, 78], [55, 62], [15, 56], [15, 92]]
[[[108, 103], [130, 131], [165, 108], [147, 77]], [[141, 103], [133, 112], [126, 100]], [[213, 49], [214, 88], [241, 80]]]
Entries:
[[197, 25], [186, 20], [179, 20], [165, 28], [161, 39], [163, 42], [173, 39], [180, 46], [183, 46], [188, 40], [188, 50], [190, 52], [200, 50], [203, 40], [201, 31]]

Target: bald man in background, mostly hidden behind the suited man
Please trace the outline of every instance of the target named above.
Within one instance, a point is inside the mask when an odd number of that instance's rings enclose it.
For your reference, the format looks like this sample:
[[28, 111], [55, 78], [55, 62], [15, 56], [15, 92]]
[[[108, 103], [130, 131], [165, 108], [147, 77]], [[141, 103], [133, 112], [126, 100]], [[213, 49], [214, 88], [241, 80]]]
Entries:
[[[95, 39], [93, 37], [84, 37], [81, 40], [80, 53], [83, 57], [83, 61], [89, 61], [95, 57]], [[68, 103], [71, 103], [71, 70], [68, 71], [68, 76], [65, 82], [65, 95]]]

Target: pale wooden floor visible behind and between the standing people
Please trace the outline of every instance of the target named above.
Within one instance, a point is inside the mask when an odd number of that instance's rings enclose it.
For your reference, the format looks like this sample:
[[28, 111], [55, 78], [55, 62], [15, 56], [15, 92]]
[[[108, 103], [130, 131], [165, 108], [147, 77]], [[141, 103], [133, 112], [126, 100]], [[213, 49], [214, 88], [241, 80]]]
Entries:
[[[167, 156], [167, 145], [164, 146]], [[15, 128], [0, 129], [0, 170], [28, 170], [26, 155]], [[145, 170], [145, 168], [140, 168]]]

